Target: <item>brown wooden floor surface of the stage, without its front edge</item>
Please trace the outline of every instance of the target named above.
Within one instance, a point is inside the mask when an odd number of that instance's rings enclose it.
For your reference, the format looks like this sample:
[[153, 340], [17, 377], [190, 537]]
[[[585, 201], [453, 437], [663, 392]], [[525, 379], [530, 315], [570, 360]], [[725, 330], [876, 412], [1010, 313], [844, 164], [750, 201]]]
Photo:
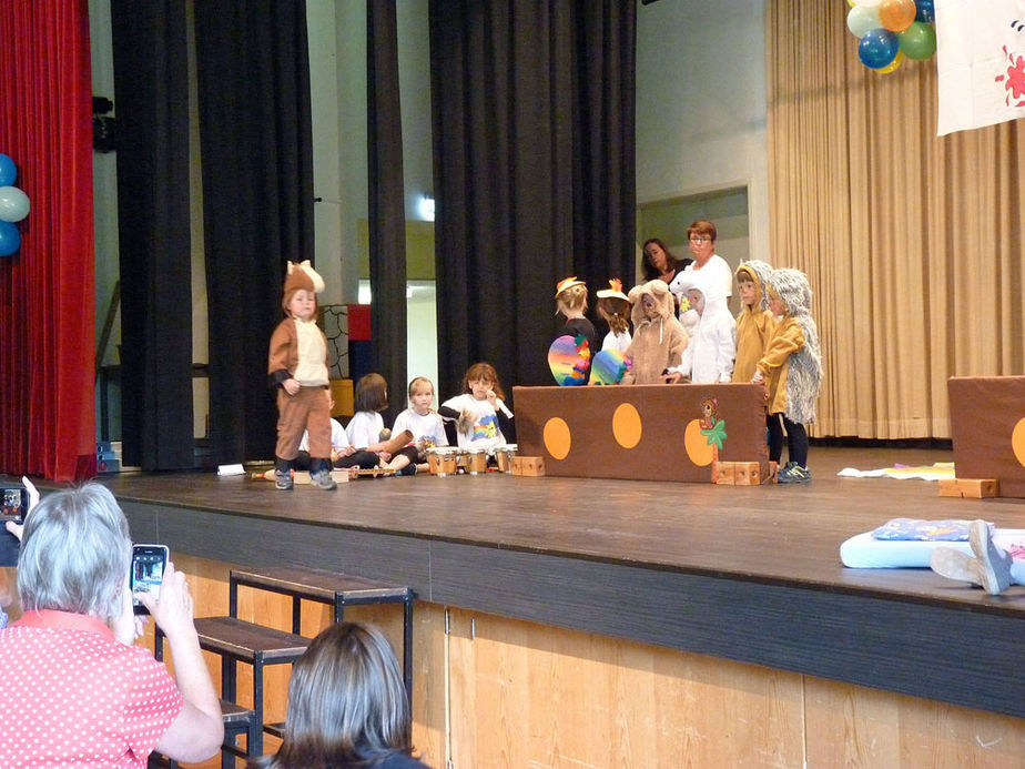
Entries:
[[941, 498], [934, 482], [836, 475], [844, 467], [952, 461], [952, 453], [933, 449], [812, 447], [811, 484], [760, 487], [488, 473], [361, 478], [335, 493], [296, 486], [288, 494], [270, 482], [211, 473], [101, 479], [121, 500], [1025, 610], [1025, 587], [994, 598], [924, 569], [848, 569], [840, 563], [842, 542], [897, 516], [981, 517], [1001, 527], [1025, 528], [1023, 499]]

